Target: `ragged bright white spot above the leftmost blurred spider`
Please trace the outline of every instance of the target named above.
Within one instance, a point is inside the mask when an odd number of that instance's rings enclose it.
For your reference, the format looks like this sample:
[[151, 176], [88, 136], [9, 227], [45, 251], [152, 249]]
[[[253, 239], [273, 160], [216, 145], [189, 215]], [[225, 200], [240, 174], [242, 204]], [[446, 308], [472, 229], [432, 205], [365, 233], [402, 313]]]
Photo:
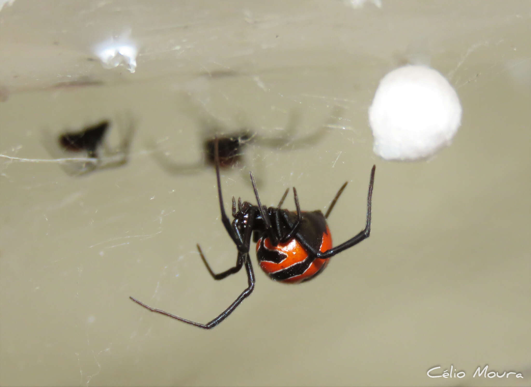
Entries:
[[122, 35], [113, 36], [94, 47], [94, 53], [98, 56], [104, 68], [124, 65], [130, 72], [135, 72], [138, 47], [130, 39], [130, 34], [131, 31], [127, 31]]

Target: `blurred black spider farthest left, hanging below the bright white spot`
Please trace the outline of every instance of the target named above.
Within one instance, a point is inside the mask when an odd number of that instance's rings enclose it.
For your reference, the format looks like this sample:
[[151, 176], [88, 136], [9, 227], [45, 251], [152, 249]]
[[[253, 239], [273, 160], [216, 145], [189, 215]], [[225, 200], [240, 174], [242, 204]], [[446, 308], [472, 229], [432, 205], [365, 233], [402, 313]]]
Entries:
[[[134, 125], [132, 118], [128, 121], [126, 125], [117, 125], [120, 139], [114, 147], [107, 141], [108, 133], [112, 128], [108, 119], [85, 126], [79, 131], [63, 132], [55, 138], [46, 133], [48, 139], [45, 141], [45, 146], [53, 157], [65, 161], [61, 166], [69, 175], [78, 176], [96, 169], [118, 167], [124, 165], [129, 159]], [[70, 153], [74, 152], [84, 152], [85, 157], [64, 159], [65, 156], [70, 156]]]

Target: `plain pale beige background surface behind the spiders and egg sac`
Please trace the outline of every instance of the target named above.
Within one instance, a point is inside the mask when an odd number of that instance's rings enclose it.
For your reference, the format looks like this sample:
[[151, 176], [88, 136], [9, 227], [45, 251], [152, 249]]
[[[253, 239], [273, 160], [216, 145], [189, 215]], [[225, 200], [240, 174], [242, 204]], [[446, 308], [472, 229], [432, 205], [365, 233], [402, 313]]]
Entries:
[[[50, 4], [0, 11], [1, 385], [531, 385], [529, 2]], [[87, 60], [127, 28], [136, 73]], [[463, 126], [430, 161], [384, 162], [367, 108], [407, 62], [448, 76]], [[236, 257], [213, 170], [172, 174], [153, 157], [156, 142], [200, 158], [188, 102], [261, 135], [290, 115], [295, 137], [328, 123], [306, 148], [246, 149], [222, 175], [227, 209], [252, 200], [249, 168], [267, 205], [295, 185], [303, 209], [325, 209], [349, 180], [329, 219], [340, 243], [363, 227], [377, 166], [371, 237], [303, 285], [255, 264], [253, 295], [212, 331], [127, 298], [208, 322], [245, 287], [244, 273], [213, 281], [195, 250], [218, 271]], [[72, 177], [47, 161], [44, 133], [124, 112], [127, 165]], [[485, 364], [525, 379], [473, 378]], [[427, 377], [438, 365], [466, 377]]]

